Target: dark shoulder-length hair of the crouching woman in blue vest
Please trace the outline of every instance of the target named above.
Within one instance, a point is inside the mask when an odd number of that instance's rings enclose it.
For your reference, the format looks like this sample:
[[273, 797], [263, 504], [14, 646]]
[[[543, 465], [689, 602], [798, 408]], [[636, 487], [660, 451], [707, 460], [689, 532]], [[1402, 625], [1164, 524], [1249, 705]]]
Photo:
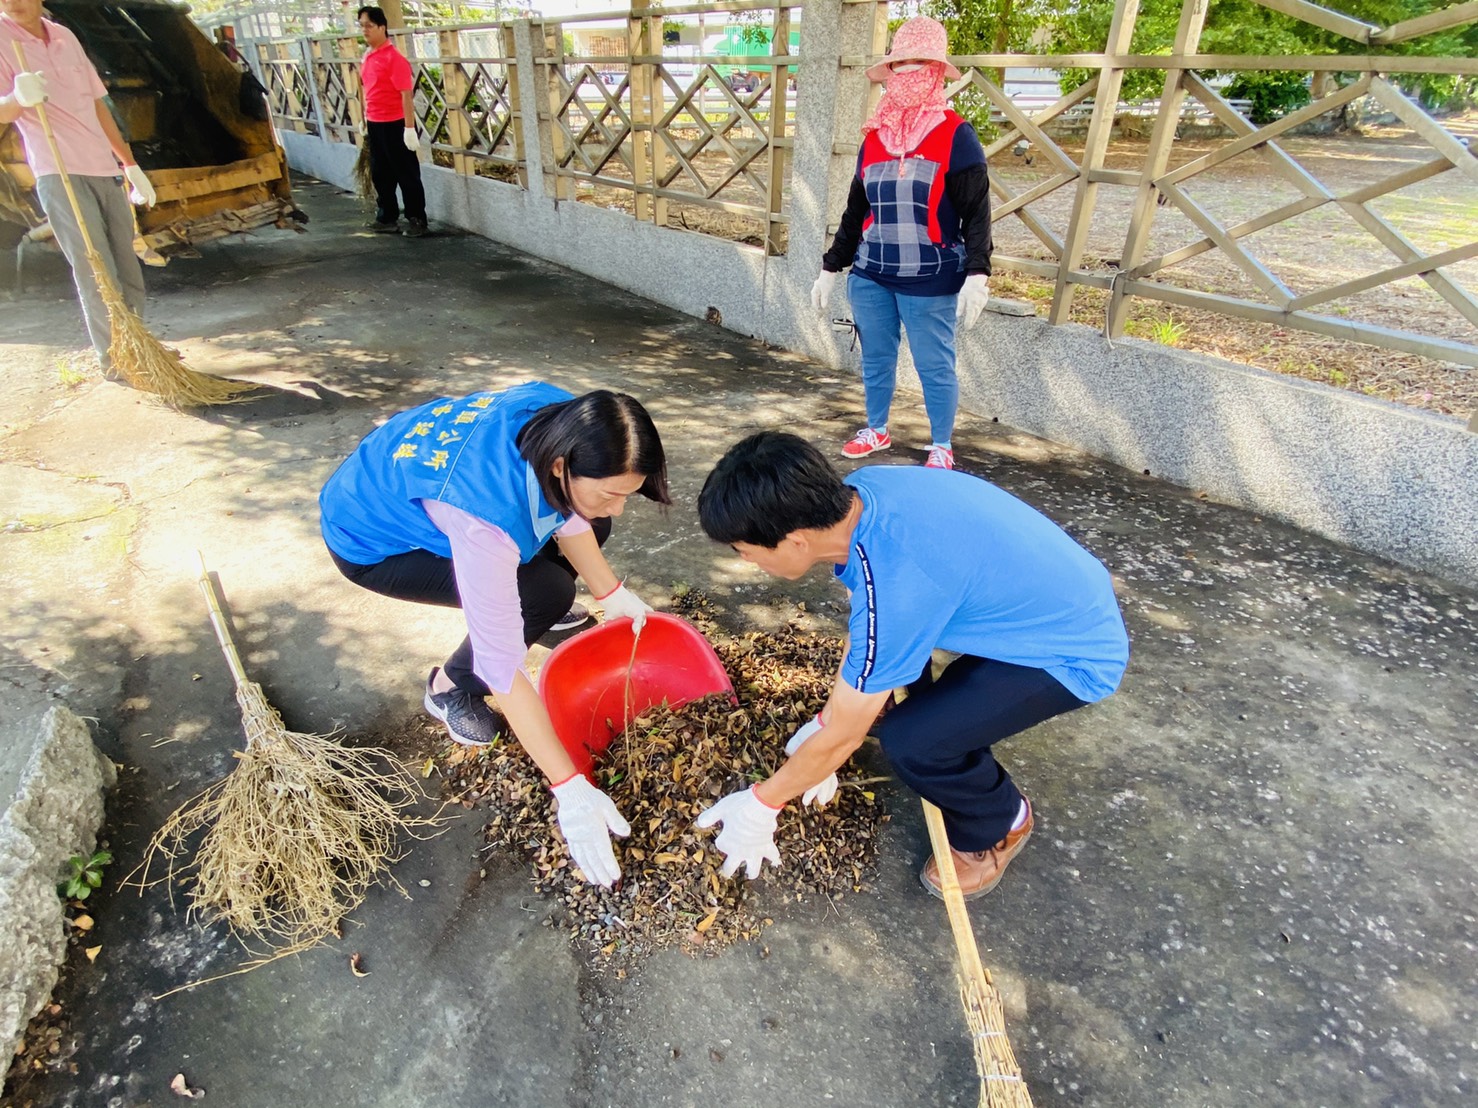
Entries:
[[[600, 389], [573, 400], [545, 405], [519, 431], [519, 454], [534, 467], [544, 499], [562, 516], [575, 513], [569, 495], [573, 477], [621, 477], [628, 473], [646, 480], [637, 489], [649, 501], [671, 504], [667, 489], [667, 454], [656, 425], [640, 400]], [[554, 476], [556, 459], [565, 459], [563, 477]]]

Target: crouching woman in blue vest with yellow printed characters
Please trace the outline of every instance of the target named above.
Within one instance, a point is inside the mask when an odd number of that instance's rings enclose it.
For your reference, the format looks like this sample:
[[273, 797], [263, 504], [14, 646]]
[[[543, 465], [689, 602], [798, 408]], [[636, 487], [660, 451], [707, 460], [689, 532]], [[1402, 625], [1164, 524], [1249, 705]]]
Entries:
[[458, 743], [492, 742], [503, 722], [559, 801], [559, 826], [588, 880], [621, 870], [610, 833], [631, 829], [554, 734], [523, 672], [528, 647], [571, 609], [575, 576], [640, 629], [652, 609], [600, 553], [628, 496], [671, 504], [667, 455], [633, 397], [572, 396], [532, 381], [443, 397], [371, 431], [318, 504], [324, 542], [356, 585], [399, 600], [461, 607], [467, 638], [426, 683], [426, 709]]

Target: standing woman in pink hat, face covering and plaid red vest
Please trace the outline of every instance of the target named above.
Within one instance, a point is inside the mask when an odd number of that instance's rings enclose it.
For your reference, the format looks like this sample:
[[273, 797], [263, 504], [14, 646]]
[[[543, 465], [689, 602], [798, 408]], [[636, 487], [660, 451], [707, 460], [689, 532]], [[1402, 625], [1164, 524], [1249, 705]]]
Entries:
[[888, 56], [868, 69], [887, 89], [862, 124], [847, 211], [811, 285], [811, 306], [825, 312], [837, 275], [851, 266], [847, 297], [862, 340], [868, 425], [841, 448], [848, 458], [893, 445], [888, 409], [902, 326], [930, 421], [924, 464], [955, 467], [955, 331], [974, 325], [990, 298], [990, 191], [975, 129], [944, 98], [946, 78], [959, 77], [947, 53], [944, 27], [919, 15], [899, 27]]

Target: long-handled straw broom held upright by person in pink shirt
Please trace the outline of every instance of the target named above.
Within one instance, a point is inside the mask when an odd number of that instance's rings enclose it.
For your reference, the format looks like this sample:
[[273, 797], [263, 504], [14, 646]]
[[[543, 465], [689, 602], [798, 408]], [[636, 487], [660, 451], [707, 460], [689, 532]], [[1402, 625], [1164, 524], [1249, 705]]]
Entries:
[[[21, 43], [12, 43], [15, 56], [22, 69], [27, 69], [25, 52]], [[171, 408], [198, 408], [213, 403], [231, 403], [239, 400], [242, 393], [254, 390], [257, 386], [242, 381], [229, 381], [220, 377], [198, 374], [186, 366], [179, 353], [170, 350], [158, 338], [149, 334], [133, 310], [123, 301], [123, 293], [114, 282], [108, 266], [93, 247], [92, 235], [87, 232], [87, 222], [83, 219], [77, 194], [72, 192], [72, 180], [62, 164], [62, 154], [56, 148], [56, 136], [52, 133], [52, 123], [46, 114], [46, 103], [35, 105], [35, 114], [41, 120], [41, 131], [52, 148], [52, 158], [56, 161], [56, 171], [62, 177], [62, 188], [67, 199], [72, 205], [77, 217], [77, 228], [81, 230], [83, 245], [87, 250], [87, 264], [98, 281], [98, 293], [103, 304], [108, 306], [108, 324], [112, 340], [108, 344], [108, 355], [114, 366], [127, 378], [129, 384], [140, 391], [155, 393]]]

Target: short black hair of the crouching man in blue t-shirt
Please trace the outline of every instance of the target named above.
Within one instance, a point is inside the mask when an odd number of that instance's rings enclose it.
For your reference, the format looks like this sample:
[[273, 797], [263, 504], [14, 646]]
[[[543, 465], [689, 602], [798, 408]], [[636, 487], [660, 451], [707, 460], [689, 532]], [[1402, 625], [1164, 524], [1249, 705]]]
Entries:
[[792, 530], [841, 523], [853, 495], [808, 442], [760, 431], [718, 459], [698, 493], [698, 519], [715, 542], [774, 550]]

